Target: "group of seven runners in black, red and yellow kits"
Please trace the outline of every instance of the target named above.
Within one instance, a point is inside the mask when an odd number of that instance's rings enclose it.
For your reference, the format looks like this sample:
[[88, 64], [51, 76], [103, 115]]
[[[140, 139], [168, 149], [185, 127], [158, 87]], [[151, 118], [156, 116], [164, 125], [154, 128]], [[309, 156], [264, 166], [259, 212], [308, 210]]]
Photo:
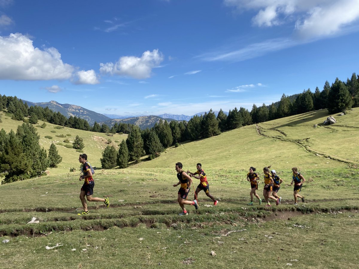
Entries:
[[[92, 178], [93, 176], [93, 170], [89, 162], [87, 161], [87, 155], [86, 154], [80, 154], [79, 162], [83, 164], [82, 167], [82, 173], [83, 175], [80, 176], [79, 180], [84, 180], [84, 184], [81, 187], [80, 192], [80, 200], [82, 203], [82, 206], [84, 208], [84, 211], [82, 213], [79, 213], [78, 215], [87, 215], [89, 214], [87, 209], [87, 202], [86, 199], [94, 202], [103, 202], [107, 207], [109, 207], [109, 200], [108, 197], [106, 198], [98, 198], [98, 197], [92, 197], [93, 195], [93, 187], [95, 185], [95, 182]], [[283, 183], [283, 180], [276, 174], [275, 170], [270, 170], [271, 166], [264, 167], [263, 173], [264, 173], [264, 189], [263, 189], [263, 196], [266, 201], [266, 207], [271, 207], [270, 199], [274, 200], [276, 202], [276, 205], [279, 205], [281, 202], [281, 197], [278, 196], [278, 191], [280, 189], [280, 185]], [[178, 185], [181, 185], [180, 189], [178, 190], [178, 198], [177, 202], [180, 205], [182, 212], [179, 214], [181, 216], [187, 215], [188, 212], [185, 208], [185, 205], [193, 205], [196, 209], [198, 209], [198, 193], [203, 190], [205, 194], [213, 200], [213, 205], [216, 206], [218, 204], [218, 200], [216, 200], [210, 193], [209, 193], [209, 184], [207, 181], [207, 176], [205, 171], [202, 169], [202, 165], [198, 163], [196, 165], [197, 171], [195, 173], [191, 173], [190, 171], [183, 171], [182, 170], [183, 165], [181, 162], [177, 162], [175, 169], [177, 172], [177, 178], [178, 182], [176, 184], [173, 184], [173, 187], [176, 187]], [[259, 204], [262, 203], [262, 199], [257, 194], [256, 190], [258, 189], [258, 180], [259, 176], [257, 173], [255, 173], [256, 168], [250, 167], [249, 173], [247, 174], [247, 180], [251, 183], [251, 202], [248, 203], [248, 205], [253, 205], [253, 197], [255, 196], [259, 200]], [[294, 183], [294, 205], [298, 204], [297, 198], [301, 198], [302, 202], [304, 202], [304, 196], [299, 195], [298, 193], [302, 189], [302, 184], [304, 181], [306, 181], [302, 174], [298, 173], [297, 167], [292, 168], [293, 171], [293, 180], [292, 185]], [[193, 183], [192, 177], [199, 179], [200, 184], [197, 186], [194, 194], [193, 201], [187, 200], [187, 195], [190, 193], [191, 186]], [[86, 199], [85, 199], [86, 197]]]

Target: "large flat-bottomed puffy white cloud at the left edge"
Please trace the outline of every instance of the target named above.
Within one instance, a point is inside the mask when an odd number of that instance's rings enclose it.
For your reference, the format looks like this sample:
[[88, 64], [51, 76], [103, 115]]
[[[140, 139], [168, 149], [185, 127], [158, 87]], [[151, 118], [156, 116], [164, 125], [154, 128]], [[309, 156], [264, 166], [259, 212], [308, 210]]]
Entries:
[[70, 79], [74, 67], [63, 63], [56, 48], [35, 48], [32, 40], [20, 34], [0, 36], [0, 79]]

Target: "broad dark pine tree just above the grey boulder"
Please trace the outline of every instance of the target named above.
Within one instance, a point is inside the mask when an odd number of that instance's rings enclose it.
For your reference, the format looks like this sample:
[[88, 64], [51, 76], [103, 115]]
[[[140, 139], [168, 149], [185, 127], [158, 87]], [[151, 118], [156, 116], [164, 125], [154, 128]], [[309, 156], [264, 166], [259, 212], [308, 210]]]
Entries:
[[330, 104], [330, 106], [328, 106], [328, 112], [330, 114], [350, 109], [354, 103], [344, 82], [338, 78], [336, 78], [330, 88], [328, 101], [328, 104]]

